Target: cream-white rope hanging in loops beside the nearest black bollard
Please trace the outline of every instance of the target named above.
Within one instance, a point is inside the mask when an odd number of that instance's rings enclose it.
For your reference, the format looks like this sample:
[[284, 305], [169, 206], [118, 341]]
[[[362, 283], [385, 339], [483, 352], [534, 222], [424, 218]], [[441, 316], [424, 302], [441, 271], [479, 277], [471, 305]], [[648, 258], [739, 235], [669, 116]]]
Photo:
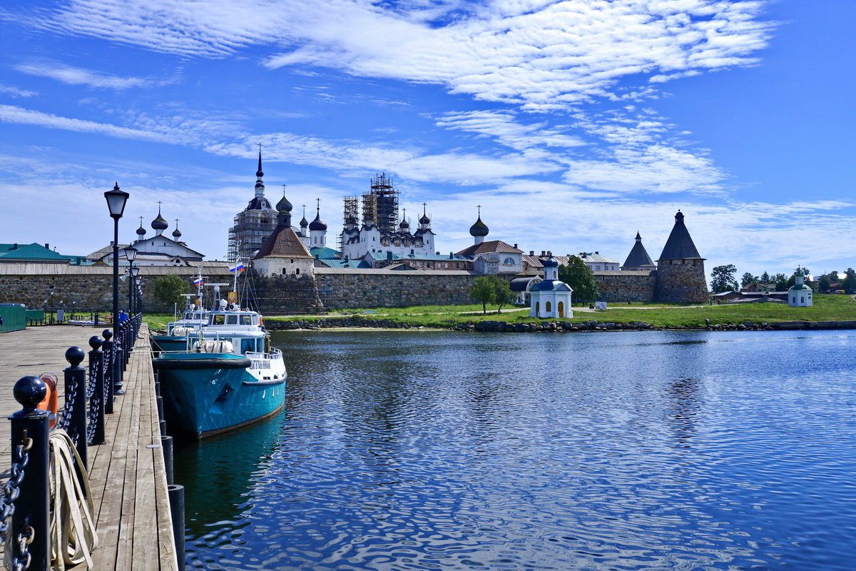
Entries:
[[[68, 433], [51, 431], [51, 546], [54, 571], [86, 562], [92, 569], [92, 550], [98, 547], [92, 519], [89, 473]], [[80, 466], [83, 488], [74, 466]], [[84, 492], [86, 496], [84, 496]]]

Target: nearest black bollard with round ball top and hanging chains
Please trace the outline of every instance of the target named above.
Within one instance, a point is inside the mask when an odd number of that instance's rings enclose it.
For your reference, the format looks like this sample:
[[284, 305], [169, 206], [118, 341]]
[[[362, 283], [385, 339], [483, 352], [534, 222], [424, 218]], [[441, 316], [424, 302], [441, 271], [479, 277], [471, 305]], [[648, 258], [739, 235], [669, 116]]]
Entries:
[[[15, 514], [12, 514], [10, 538], [7, 549], [12, 551], [12, 561], [26, 559], [21, 554], [19, 535], [32, 540], [27, 547], [31, 560], [29, 568], [47, 569], [51, 565], [50, 542], [50, 491], [48, 488], [48, 416], [39, 405], [47, 394], [47, 386], [38, 377], [23, 377], [15, 383], [15, 401], [23, 409], [9, 417], [12, 430], [12, 470], [9, 481], [17, 484], [18, 498]], [[19, 449], [19, 445], [21, 445]], [[27, 455], [24, 473], [19, 471], [19, 454]], [[18, 481], [20, 479], [20, 481]]]

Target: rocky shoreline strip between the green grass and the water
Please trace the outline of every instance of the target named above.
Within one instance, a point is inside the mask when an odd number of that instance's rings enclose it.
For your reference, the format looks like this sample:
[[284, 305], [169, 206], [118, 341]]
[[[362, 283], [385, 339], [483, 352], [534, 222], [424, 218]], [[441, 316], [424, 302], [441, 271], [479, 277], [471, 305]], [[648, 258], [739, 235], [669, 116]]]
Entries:
[[278, 321], [269, 319], [265, 326], [269, 330], [321, 330], [330, 328], [373, 328], [373, 329], [437, 329], [455, 331], [487, 331], [503, 333], [532, 333], [532, 332], [585, 332], [585, 331], [776, 331], [776, 330], [844, 330], [856, 329], [856, 321], [782, 321], [778, 323], [752, 323], [745, 321], [734, 324], [710, 324], [705, 319], [705, 324], [700, 326], [679, 325], [666, 327], [651, 325], [645, 321], [633, 321], [631, 323], [603, 322], [592, 319], [584, 323], [571, 323], [568, 321], [538, 321], [532, 323], [508, 323], [506, 321], [478, 321], [464, 322], [450, 325], [449, 327], [430, 327], [425, 325], [411, 325], [397, 323], [391, 319], [372, 319], [360, 317], [348, 318], [321, 318], [313, 320]]

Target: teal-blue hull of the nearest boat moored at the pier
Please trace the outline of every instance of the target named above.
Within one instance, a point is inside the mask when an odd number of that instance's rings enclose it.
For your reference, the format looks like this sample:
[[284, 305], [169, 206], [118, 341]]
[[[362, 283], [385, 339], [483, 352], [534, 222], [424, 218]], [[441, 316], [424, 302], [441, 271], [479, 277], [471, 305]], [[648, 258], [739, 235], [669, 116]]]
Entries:
[[152, 362], [167, 422], [197, 438], [265, 419], [285, 402], [285, 378], [259, 381], [241, 355], [180, 353]]

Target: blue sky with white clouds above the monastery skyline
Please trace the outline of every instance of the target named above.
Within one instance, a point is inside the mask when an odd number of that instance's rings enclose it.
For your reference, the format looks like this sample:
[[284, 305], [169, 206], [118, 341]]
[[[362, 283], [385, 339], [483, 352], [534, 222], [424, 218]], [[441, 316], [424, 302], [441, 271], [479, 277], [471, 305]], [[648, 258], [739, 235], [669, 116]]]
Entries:
[[[442, 252], [488, 239], [708, 267], [856, 264], [851, 0], [63, 0], [0, 8], [0, 241], [89, 253], [157, 214], [222, 259], [253, 196], [385, 170]], [[151, 230], [150, 230], [151, 233]], [[335, 242], [335, 237], [329, 240]]]

